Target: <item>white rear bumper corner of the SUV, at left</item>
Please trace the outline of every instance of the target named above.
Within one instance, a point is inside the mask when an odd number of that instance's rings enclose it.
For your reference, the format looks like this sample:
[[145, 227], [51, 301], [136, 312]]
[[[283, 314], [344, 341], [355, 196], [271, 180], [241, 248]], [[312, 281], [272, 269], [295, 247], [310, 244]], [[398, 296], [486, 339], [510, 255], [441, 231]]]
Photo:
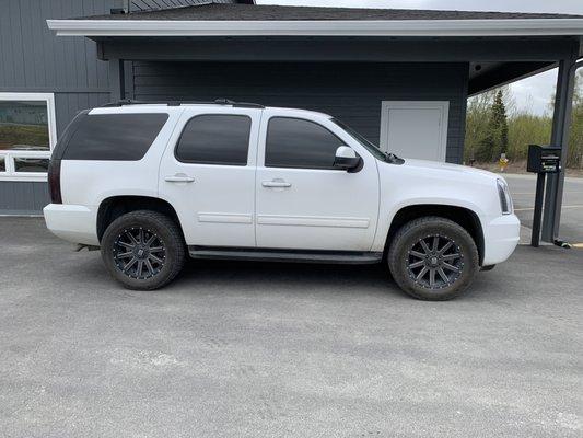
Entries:
[[100, 245], [96, 208], [49, 204], [43, 208], [43, 215], [47, 228], [55, 235], [72, 243]]

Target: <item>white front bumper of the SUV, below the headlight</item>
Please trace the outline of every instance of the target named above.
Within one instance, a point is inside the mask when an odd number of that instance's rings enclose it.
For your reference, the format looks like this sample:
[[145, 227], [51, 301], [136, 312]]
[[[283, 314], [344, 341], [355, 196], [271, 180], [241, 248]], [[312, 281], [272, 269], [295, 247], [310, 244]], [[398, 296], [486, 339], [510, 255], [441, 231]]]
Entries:
[[509, 258], [521, 239], [521, 221], [515, 215], [499, 216], [483, 229], [482, 266], [495, 265]]

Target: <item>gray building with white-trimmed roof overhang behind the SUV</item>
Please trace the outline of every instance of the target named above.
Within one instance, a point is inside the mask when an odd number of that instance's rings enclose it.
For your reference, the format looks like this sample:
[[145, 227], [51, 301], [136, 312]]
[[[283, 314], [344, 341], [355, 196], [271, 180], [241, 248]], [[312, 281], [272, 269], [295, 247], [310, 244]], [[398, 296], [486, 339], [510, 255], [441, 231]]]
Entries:
[[[77, 111], [107, 101], [228, 97], [323, 111], [397, 154], [460, 163], [467, 97], [553, 67], [552, 141], [565, 146], [583, 55], [583, 16], [575, 15], [252, 1], [0, 4], [8, 11], [0, 108], [45, 102], [49, 147]], [[7, 140], [0, 130], [0, 209], [38, 211], [47, 199], [39, 160], [49, 152], [14, 151], [11, 128], [0, 122], [0, 129], [8, 132]], [[40, 141], [40, 130], [28, 126], [23, 136]], [[560, 194], [561, 178], [549, 188]], [[551, 207], [548, 229], [558, 226], [560, 201]]]

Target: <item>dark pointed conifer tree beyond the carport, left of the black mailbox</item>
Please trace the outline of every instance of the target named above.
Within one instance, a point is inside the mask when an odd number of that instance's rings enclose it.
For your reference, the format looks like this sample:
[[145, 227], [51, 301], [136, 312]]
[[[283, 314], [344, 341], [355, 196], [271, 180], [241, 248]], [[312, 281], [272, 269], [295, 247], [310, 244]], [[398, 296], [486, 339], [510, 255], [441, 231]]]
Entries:
[[509, 124], [504, 94], [502, 90], [495, 93], [494, 102], [489, 111], [486, 137], [481, 139], [476, 150], [476, 160], [491, 162], [497, 160], [509, 147]]

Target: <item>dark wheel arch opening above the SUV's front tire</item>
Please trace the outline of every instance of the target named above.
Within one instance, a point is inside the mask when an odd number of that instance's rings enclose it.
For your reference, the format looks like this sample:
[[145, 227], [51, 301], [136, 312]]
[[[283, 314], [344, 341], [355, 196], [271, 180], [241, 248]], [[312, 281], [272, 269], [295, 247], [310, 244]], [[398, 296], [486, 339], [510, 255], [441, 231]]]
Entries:
[[466, 207], [441, 204], [416, 204], [401, 207], [393, 217], [385, 241], [385, 253], [390, 245], [393, 237], [407, 222], [427, 217], [438, 216], [450, 219], [464, 228], [474, 239], [478, 249], [479, 264], [482, 265], [485, 253], [483, 230], [478, 215]]

